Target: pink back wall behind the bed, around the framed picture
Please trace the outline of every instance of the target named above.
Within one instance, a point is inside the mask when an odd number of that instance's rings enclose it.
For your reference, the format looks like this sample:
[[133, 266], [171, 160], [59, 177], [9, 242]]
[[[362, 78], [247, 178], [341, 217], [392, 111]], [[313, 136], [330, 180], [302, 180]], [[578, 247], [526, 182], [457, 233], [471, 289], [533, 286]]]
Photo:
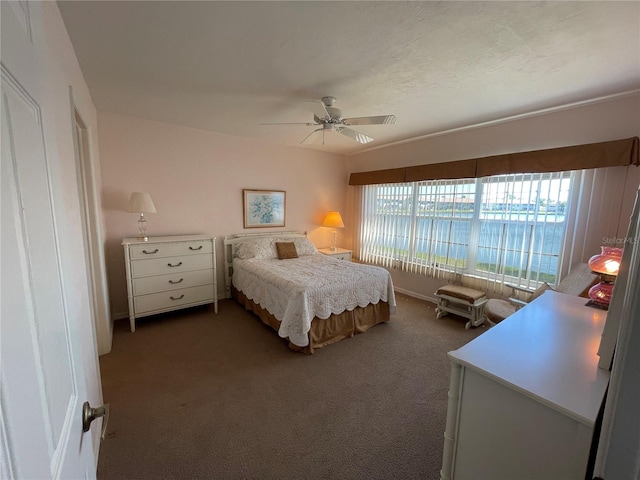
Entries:
[[[158, 210], [147, 215], [150, 236], [203, 233], [217, 237], [219, 294], [224, 288], [224, 235], [258, 230], [243, 229], [243, 188], [285, 190], [285, 229], [307, 231], [318, 247], [331, 243], [330, 230], [320, 226], [325, 213], [345, 212], [348, 173], [346, 159], [340, 155], [109, 113], [98, 114], [98, 132], [114, 318], [127, 316], [120, 242], [137, 233], [137, 215], [126, 212], [133, 191], [149, 192]], [[344, 220], [349, 227], [348, 215]], [[338, 234], [338, 243], [349, 246], [350, 238], [345, 228]]]

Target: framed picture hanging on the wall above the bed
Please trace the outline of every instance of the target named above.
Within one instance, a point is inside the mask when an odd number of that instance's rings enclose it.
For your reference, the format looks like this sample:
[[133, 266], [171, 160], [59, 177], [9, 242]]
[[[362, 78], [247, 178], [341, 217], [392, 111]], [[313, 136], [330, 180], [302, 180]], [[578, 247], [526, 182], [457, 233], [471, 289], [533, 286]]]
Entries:
[[286, 192], [242, 190], [244, 228], [284, 227]]

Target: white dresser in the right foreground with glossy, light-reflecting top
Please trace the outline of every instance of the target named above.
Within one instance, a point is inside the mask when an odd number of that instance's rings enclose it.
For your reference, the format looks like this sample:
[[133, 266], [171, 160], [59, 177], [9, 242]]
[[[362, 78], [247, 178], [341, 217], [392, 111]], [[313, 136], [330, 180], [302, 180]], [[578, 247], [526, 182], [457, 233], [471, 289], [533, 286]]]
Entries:
[[443, 480], [585, 478], [609, 381], [586, 301], [546, 292], [449, 352]]

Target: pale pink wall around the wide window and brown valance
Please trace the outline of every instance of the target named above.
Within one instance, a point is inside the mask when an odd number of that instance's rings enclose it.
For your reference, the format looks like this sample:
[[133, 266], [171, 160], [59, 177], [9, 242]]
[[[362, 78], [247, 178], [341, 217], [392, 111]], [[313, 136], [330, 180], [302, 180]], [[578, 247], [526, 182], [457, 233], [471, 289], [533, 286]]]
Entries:
[[[348, 157], [349, 173], [479, 158], [503, 153], [596, 143], [640, 136], [640, 93], [559, 109], [511, 121], [470, 127]], [[595, 192], [594, 215], [584, 226], [586, 258], [599, 251], [602, 237], [624, 237], [640, 183], [640, 167], [619, 169], [599, 179], [607, 189]], [[348, 214], [354, 216], [355, 187], [348, 187]], [[576, 258], [574, 262], [585, 261]], [[433, 299], [443, 282], [410, 273], [391, 272], [396, 288]]]

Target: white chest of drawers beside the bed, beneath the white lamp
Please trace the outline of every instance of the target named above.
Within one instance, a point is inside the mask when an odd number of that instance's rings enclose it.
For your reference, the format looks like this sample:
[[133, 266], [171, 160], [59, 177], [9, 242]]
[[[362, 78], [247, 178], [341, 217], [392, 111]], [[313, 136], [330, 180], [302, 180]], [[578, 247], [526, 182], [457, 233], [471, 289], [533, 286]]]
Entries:
[[218, 313], [215, 237], [176, 235], [122, 240], [129, 321], [207, 303]]

